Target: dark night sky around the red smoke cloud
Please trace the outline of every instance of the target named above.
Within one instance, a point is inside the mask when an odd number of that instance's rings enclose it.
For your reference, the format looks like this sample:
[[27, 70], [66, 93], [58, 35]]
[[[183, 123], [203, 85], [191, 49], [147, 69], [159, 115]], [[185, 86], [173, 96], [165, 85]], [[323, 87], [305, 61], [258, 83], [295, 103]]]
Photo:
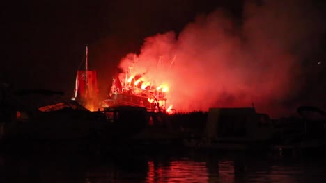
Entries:
[[[263, 5], [264, 2], [255, 3]], [[325, 3], [316, 1], [315, 6], [320, 9], [325, 7]], [[243, 7], [244, 2], [240, 0], [31, 0], [1, 3], [0, 82], [18, 88], [60, 90], [70, 98], [76, 71], [84, 60], [85, 46], [88, 45], [90, 67], [98, 71], [100, 94], [104, 94], [121, 58], [130, 52], [139, 53], [146, 37], [170, 30], [178, 36], [197, 15], [217, 9], [227, 12], [235, 24], [241, 26]], [[325, 15], [320, 13], [320, 17]], [[311, 101], [307, 104], [314, 105], [319, 101], [316, 105], [325, 106], [326, 32], [322, 32], [318, 38], [320, 42], [314, 44], [317, 46], [309, 52], [313, 56], [302, 58], [302, 63], [309, 68], [302, 72], [305, 85], [288, 103], [304, 97]], [[320, 101], [324, 101], [323, 104]]]

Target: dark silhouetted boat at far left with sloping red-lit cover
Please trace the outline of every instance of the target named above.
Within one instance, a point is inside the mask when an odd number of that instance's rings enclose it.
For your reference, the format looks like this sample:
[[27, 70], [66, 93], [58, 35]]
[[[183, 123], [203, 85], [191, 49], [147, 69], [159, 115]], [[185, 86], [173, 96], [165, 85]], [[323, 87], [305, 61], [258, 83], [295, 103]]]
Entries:
[[31, 153], [49, 147], [84, 149], [107, 128], [104, 115], [94, 114], [75, 101], [59, 100], [62, 95], [47, 89], [10, 91], [2, 100], [2, 107], [8, 110], [1, 115], [1, 150]]

